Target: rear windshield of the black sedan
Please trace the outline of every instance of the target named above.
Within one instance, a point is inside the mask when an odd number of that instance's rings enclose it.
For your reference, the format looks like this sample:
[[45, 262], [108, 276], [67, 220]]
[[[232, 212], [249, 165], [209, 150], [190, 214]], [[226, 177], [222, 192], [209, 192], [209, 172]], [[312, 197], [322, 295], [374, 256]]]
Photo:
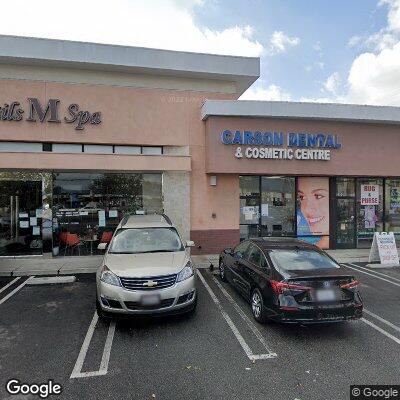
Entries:
[[272, 262], [286, 271], [310, 271], [314, 269], [340, 268], [329, 257], [315, 250], [279, 249], [269, 252]]

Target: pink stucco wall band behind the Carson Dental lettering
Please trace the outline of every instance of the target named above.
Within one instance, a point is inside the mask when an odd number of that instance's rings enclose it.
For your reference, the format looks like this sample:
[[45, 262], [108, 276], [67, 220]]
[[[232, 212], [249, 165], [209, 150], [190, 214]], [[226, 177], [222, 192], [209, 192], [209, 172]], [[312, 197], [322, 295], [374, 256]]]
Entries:
[[[221, 143], [231, 131], [324, 132], [339, 135], [341, 149], [331, 150], [330, 161], [238, 159], [235, 145]], [[206, 129], [208, 173], [260, 175], [400, 176], [400, 126], [271, 118], [210, 117]], [[243, 148], [248, 146], [242, 146]]]

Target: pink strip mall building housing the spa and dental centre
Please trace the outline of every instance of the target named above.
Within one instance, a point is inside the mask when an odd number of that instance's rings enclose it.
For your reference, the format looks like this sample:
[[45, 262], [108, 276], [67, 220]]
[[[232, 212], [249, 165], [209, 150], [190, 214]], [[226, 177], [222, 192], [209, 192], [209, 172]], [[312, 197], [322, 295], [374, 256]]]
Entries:
[[259, 66], [0, 36], [0, 256], [95, 254], [143, 212], [170, 216], [194, 254], [400, 235], [400, 109], [238, 101]]

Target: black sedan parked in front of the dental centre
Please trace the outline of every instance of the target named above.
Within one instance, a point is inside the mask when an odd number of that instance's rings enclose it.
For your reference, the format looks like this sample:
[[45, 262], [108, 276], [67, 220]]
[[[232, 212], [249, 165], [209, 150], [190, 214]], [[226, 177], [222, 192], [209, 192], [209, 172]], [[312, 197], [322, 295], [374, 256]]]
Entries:
[[337, 322], [362, 317], [359, 282], [318, 247], [291, 238], [255, 238], [219, 257], [223, 281], [248, 301], [258, 322]]

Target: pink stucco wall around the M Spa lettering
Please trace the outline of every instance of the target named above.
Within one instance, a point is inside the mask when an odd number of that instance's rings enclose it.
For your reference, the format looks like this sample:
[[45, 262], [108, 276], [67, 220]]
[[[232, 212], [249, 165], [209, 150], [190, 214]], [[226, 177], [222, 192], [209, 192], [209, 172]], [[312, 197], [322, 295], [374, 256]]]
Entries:
[[[50, 98], [60, 99], [60, 116], [71, 103], [83, 110], [100, 111], [100, 125], [87, 124], [76, 131], [70, 124], [25, 121], [28, 97], [37, 97], [42, 106]], [[63, 84], [28, 80], [0, 80], [0, 107], [19, 101], [25, 110], [20, 122], [0, 121], [0, 140], [94, 143], [155, 146], [189, 146], [187, 157], [105, 156], [3, 153], [0, 168], [74, 170], [185, 170], [191, 171], [191, 229], [218, 229], [234, 226], [231, 207], [221, 188], [232, 192], [235, 177], [219, 178], [217, 188], [205, 175], [205, 123], [201, 105], [205, 99], [234, 99], [234, 94], [164, 89], [138, 89], [89, 84]], [[236, 201], [236, 192], [229, 199]], [[211, 214], [216, 213], [216, 218]], [[233, 213], [237, 218], [238, 213]]]

